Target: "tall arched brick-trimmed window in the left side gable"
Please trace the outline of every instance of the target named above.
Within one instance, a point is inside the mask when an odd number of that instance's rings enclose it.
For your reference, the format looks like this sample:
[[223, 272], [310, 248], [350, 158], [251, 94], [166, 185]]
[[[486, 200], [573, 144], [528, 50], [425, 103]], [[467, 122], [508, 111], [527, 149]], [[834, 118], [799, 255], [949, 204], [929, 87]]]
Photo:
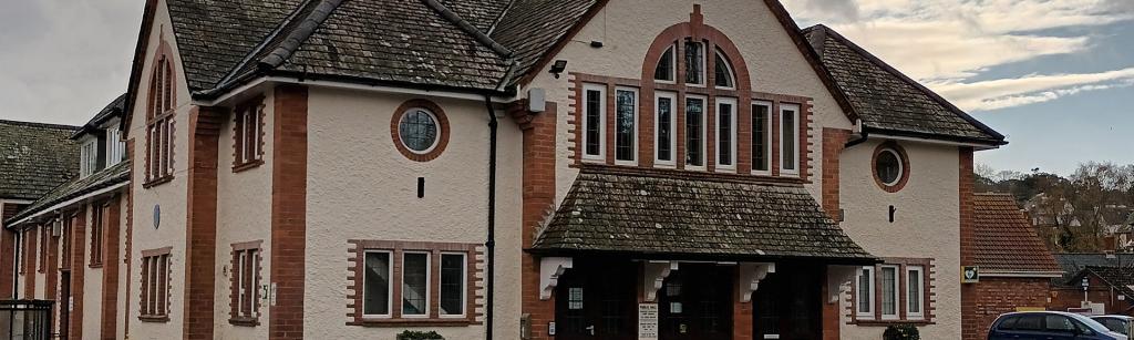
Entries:
[[[168, 46], [162, 43], [163, 48]], [[154, 60], [146, 105], [146, 186], [168, 181], [174, 176], [174, 63], [168, 52]]]

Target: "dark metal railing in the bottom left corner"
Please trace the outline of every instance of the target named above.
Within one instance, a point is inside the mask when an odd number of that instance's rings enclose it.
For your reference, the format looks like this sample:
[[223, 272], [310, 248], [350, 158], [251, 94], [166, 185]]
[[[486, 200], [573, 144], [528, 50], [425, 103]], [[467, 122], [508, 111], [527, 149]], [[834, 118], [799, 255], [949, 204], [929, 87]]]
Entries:
[[51, 300], [0, 300], [0, 339], [51, 339]]

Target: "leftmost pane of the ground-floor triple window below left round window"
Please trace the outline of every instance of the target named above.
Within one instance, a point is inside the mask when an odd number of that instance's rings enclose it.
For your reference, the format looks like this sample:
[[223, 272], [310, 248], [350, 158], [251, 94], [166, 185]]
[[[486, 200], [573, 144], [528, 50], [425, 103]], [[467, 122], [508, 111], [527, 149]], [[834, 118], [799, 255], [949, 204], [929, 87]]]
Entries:
[[393, 253], [366, 250], [363, 262], [363, 316], [390, 317], [393, 309]]

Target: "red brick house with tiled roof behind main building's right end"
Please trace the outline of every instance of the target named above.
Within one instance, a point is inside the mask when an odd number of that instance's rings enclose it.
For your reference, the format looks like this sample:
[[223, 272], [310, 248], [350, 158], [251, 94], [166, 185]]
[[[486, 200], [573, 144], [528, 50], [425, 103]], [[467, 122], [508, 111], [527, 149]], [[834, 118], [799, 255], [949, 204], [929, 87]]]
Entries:
[[966, 333], [987, 334], [1000, 314], [1048, 309], [1051, 279], [1063, 271], [1010, 194], [976, 194], [973, 203], [980, 282], [962, 299], [975, 304]]

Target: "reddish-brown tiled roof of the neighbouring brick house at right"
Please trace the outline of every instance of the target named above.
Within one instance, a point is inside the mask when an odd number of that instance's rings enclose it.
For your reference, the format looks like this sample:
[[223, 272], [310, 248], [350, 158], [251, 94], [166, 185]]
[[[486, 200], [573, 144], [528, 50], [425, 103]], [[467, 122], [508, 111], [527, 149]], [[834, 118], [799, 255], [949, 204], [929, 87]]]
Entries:
[[1009, 194], [976, 194], [975, 264], [984, 271], [1060, 272], [1051, 252]]

